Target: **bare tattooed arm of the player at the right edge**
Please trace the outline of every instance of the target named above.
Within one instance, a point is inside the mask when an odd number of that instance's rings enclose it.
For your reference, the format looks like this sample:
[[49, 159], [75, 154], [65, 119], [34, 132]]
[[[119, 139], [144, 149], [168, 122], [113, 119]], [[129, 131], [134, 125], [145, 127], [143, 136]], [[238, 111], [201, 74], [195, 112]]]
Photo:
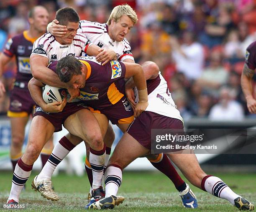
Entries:
[[245, 63], [243, 66], [243, 73], [241, 75], [241, 87], [243, 90], [243, 94], [246, 98], [249, 112], [256, 113], [256, 100], [253, 98], [253, 88], [251, 85], [253, 74], [254, 70], [249, 69], [249, 67]]

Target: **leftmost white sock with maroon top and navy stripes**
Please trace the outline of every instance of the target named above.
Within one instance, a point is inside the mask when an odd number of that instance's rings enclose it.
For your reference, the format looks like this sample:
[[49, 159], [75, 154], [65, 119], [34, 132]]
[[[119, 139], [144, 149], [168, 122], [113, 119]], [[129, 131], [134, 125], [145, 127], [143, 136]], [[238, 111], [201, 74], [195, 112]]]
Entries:
[[24, 185], [26, 184], [26, 181], [28, 180], [31, 174], [32, 167], [33, 165], [32, 166], [26, 165], [25, 163], [23, 163], [23, 161], [20, 158], [13, 172], [12, 188], [11, 188], [10, 195], [8, 197], [7, 202], [10, 199], [13, 199], [16, 202], [19, 202], [20, 192], [23, 189]]

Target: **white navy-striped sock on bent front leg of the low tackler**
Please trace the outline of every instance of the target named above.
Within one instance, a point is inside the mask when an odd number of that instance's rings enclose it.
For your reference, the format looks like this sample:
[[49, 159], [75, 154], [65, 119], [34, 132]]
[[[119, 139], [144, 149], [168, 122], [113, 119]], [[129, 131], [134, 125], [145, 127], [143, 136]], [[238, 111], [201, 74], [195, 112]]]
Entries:
[[122, 170], [115, 166], [108, 166], [105, 171], [105, 197], [116, 196], [122, 183]]

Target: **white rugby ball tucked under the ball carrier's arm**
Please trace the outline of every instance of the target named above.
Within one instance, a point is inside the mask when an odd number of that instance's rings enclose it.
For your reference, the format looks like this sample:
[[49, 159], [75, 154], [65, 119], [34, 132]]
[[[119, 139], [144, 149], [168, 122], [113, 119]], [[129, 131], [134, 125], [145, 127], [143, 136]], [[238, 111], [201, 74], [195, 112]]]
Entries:
[[67, 97], [67, 91], [64, 88], [52, 87], [48, 84], [43, 88], [43, 99], [47, 104], [62, 102], [64, 97]]

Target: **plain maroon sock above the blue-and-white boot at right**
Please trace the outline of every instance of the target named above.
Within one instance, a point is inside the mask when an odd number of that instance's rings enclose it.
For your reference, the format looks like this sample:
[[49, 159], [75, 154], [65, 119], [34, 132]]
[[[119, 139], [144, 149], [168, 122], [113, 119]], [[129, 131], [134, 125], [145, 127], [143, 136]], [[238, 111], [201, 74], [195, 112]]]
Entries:
[[163, 159], [160, 162], [151, 162], [151, 164], [164, 173], [173, 182], [175, 188], [179, 190], [179, 187], [184, 184], [184, 181], [179, 176], [178, 172], [172, 165], [169, 158], [164, 154]]

